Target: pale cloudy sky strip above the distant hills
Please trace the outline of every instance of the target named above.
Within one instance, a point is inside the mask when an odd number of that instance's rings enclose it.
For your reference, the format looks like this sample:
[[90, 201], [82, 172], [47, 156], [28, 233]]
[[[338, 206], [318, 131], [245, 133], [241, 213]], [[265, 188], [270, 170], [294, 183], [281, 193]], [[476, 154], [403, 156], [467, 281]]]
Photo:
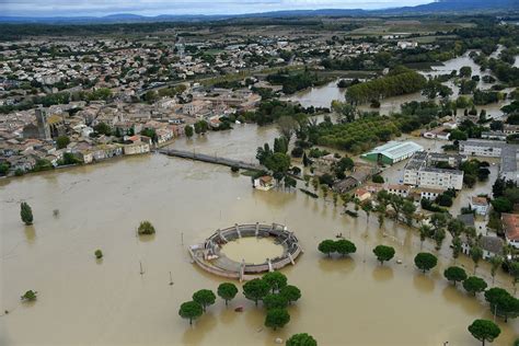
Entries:
[[387, 9], [434, 0], [0, 0], [0, 15], [242, 14], [279, 10]]

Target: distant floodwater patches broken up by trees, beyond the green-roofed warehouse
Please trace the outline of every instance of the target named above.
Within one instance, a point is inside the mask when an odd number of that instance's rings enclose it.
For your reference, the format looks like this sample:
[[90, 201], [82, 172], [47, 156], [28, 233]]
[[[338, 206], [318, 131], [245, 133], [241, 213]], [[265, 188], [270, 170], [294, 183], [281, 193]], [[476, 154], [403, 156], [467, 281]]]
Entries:
[[[500, 49], [503, 49], [503, 47], [500, 47], [498, 50], [500, 51]], [[483, 76], [492, 74], [489, 71], [484, 71], [484, 72], [480, 71], [480, 66], [477, 66], [474, 62], [474, 60], [472, 60], [469, 57], [469, 55], [470, 55], [470, 51], [466, 51], [464, 55], [460, 57], [448, 60], [443, 62], [443, 65], [432, 66], [431, 70], [420, 71], [420, 73], [424, 74], [425, 77], [449, 74], [453, 70], [459, 71], [463, 66], [470, 66], [472, 68], [473, 76], [480, 76], [480, 78], [482, 78]], [[518, 59], [516, 59], [516, 65], [517, 64], [519, 64], [519, 57]], [[330, 107], [332, 104], [332, 101], [334, 100], [344, 102], [346, 89], [337, 88], [338, 80], [339, 79], [332, 81], [323, 86], [310, 88], [308, 90], [300, 91], [296, 93], [295, 95], [288, 97], [288, 100], [292, 102], [299, 102], [304, 107], [309, 107], [309, 106]], [[455, 100], [459, 96], [459, 91], [460, 91], [459, 86], [454, 85], [452, 81], [448, 81], [445, 84], [452, 89], [453, 94], [451, 96], [451, 100]], [[477, 83], [477, 88], [480, 88], [481, 90], [488, 90], [491, 89], [491, 86], [492, 84], [483, 82], [482, 79], [480, 79], [480, 82]], [[509, 88], [509, 89], [503, 90], [503, 92], [509, 93], [512, 90], [514, 90], [512, 88]], [[371, 108], [369, 104], [361, 104], [358, 106], [358, 108], [362, 112], [379, 112], [381, 115], [390, 115], [392, 113], [399, 113], [401, 111], [402, 104], [406, 102], [412, 102], [412, 101], [418, 101], [418, 102], [427, 101], [427, 97], [422, 95], [420, 92], [417, 92], [417, 93], [387, 97], [384, 100], [381, 100], [379, 108]], [[492, 104], [487, 104], [483, 106], [476, 106], [476, 109], [478, 113], [481, 112], [481, 109], [485, 109], [487, 113], [487, 117], [499, 119], [503, 116], [503, 112], [500, 112], [500, 108], [509, 103], [510, 103], [510, 100], [503, 100], [497, 103], [492, 103]], [[463, 113], [463, 109], [458, 109], [459, 115], [461, 115], [462, 113]]]

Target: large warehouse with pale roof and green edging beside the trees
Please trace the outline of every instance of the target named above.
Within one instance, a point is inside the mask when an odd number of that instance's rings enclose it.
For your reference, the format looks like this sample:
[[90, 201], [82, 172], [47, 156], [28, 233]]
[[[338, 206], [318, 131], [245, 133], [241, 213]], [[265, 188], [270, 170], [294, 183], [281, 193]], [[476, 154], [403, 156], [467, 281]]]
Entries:
[[411, 158], [415, 152], [423, 151], [424, 147], [414, 141], [389, 141], [383, 146], [377, 147], [361, 158], [378, 162], [381, 164], [393, 164], [399, 161]]

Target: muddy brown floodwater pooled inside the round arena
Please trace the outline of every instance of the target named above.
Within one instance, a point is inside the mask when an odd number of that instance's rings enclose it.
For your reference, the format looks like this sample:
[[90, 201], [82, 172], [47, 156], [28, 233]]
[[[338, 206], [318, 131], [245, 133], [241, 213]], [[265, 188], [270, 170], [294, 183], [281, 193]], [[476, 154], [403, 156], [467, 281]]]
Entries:
[[282, 246], [274, 243], [272, 238], [247, 237], [224, 244], [221, 252], [237, 262], [244, 260], [245, 263], [261, 264], [267, 258], [281, 256]]

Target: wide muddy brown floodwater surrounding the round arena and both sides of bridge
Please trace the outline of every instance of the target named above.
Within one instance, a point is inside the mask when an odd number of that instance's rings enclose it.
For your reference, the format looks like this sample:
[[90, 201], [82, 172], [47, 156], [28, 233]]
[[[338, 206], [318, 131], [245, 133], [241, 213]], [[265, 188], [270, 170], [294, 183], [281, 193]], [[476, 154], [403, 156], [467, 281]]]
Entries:
[[[252, 160], [258, 142], [275, 135], [273, 127], [246, 125], [174, 147]], [[442, 278], [452, 264], [448, 240], [439, 266], [424, 275], [413, 265], [420, 251], [415, 231], [390, 221], [380, 229], [362, 211], [346, 217], [330, 199], [255, 191], [250, 177], [228, 168], [161, 154], [3, 180], [0, 311], [9, 314], [0, 316], [0, 345], [274, 345], [276, 337], [302, 332], [333, 346], [480, 345], [466, 327], [492, 315], [482, 297]], [[21, 200], [32, 206], [34, 226], [20, 221]], [[143, 219], [154, 224], [153, 238], [136, 237]], [[301, 242], [304, 254], [282, 269], [302, 291], [289, 308], [290, 323], [265, 328], [264, 309], [240, 292], [229, 308], [218, 299], [189, 326], [177, 314], [180, 304], [223, 280], [192, 264], [186, 246], [245, 222], [287, 224]], [[357, 253], [326, 258], [318, 244], [338, 232]], [[394, 246], [402, 264], [380, 266], [371, 252], [378, 244]], [[426, 241], [424, 251], [435, 252], [434, 244]], [[458, 264], [472, 270], [466, 258]], [[477, 268], [492, 282], [488, 273], [486, 264]], [[496, 285], [511, 289], [503, 274]], [[38, 292], [35, 303], [20, 301], [28, 289]], [[244, 311], [234, 312], [237, 305]], [[494, 345], [510, 345], [519, 322], [498, 323], [503, 332]]]

